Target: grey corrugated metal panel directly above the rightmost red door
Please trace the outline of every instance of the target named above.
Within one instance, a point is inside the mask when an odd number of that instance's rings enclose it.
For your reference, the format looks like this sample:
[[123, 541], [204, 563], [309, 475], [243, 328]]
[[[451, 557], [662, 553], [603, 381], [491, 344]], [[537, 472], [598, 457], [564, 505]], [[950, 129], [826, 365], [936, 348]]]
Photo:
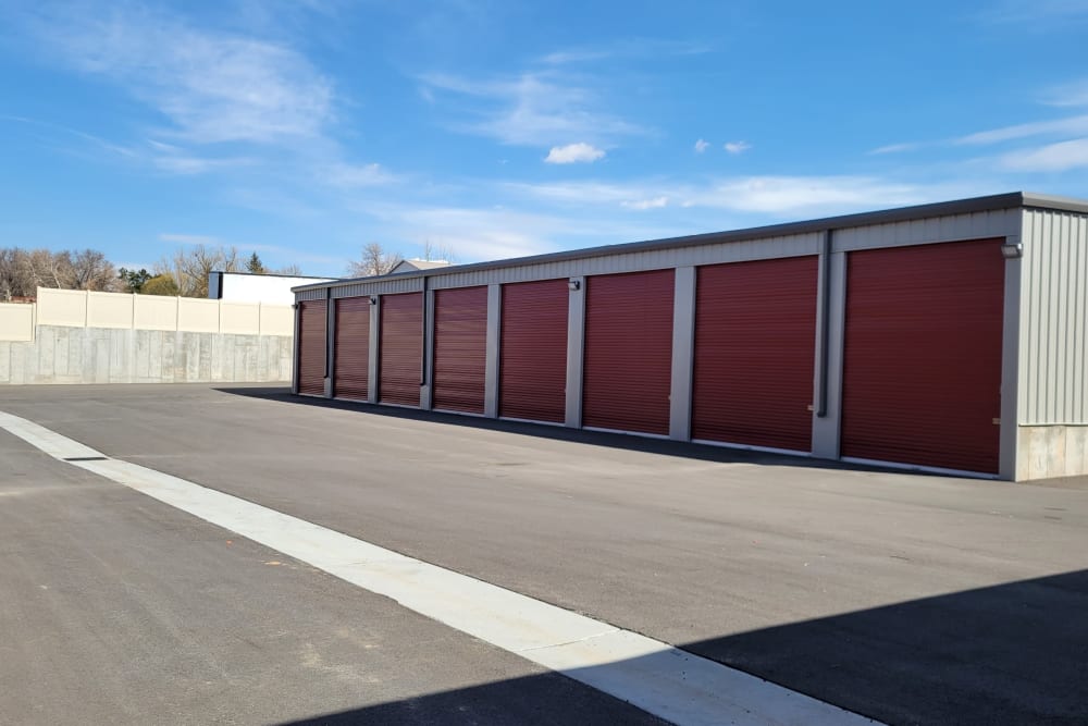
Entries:
[[1019, 234], [1019, 225], [1018, 208], [868, 224], [836, 230], [832, 251], [1005, 237]]

